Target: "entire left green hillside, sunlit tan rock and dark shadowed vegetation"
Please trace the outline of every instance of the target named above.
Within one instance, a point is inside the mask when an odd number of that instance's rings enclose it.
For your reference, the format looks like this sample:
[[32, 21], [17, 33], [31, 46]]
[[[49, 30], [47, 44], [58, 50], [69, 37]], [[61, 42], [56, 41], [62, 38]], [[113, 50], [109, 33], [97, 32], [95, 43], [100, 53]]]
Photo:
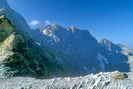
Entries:
[[[15, 31], [12, 24], [0, 17], [0, 48], [6, 51], [3, 64], [8, 67], [7, 76], [51, 76], [53, 73], [62, 73], [63, 67], [54, 60], [54, 55], [42, 51], [30, 38]], [[12, 53], [12, 54], [8, 54]], [[4, 54], [5, 55], [5, 54]]]

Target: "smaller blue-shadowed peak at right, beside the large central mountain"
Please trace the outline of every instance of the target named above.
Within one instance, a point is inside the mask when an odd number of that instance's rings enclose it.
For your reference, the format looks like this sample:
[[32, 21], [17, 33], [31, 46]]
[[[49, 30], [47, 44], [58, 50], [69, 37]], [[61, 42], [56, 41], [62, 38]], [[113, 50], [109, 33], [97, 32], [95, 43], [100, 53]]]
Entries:
[[130, 71], [128, 56], [123, 53], [122, 47], [112, 43], [106, 39], [101, 40], [101, 51], [100, 53], [108, 60], [107, 71], [119, 70], [121, 72]]

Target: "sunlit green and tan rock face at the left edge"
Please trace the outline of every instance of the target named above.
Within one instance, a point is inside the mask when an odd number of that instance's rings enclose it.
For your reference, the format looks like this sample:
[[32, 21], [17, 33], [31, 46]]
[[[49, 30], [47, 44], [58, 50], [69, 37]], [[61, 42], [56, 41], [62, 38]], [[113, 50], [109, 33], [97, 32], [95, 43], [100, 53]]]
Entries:
[[12, 44], [15, 37], [12, 35], [14, 28], [10, 25], [11, 23], [8, 22], [4, 15], [0, 16], [0, 61], [12, 55], [12, 52], [8, 50], [13, 48]]

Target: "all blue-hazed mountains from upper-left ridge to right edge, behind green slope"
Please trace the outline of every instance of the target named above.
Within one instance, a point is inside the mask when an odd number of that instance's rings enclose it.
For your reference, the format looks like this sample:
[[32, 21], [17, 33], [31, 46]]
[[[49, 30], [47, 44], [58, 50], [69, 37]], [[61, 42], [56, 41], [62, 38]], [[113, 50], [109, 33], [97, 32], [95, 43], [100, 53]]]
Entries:
[[6, 0], [1, 2], [0, 14], [7, 18], [15, 32], [32, 40], [42, 50], [41, 55], [52, 53], [52, 61], [63, 65], [64, 69], [79, 74], [132, 70], [132, 51], [127, 47], [106, 39], [98, 41], [88, 30], [74, 26], [65, 28], [51, 24], [31, 29], [24, 18], [9, 7]]

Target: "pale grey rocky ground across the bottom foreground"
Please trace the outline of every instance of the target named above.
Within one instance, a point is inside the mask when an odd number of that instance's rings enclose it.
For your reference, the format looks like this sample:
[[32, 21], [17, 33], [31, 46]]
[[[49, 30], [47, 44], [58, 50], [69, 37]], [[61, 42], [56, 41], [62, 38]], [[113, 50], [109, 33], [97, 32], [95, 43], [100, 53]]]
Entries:
[[0, 80], [0, 89], [133, 89], [133, 73], [99, 73], [79, 77], [35, 79], [16, 77]]

